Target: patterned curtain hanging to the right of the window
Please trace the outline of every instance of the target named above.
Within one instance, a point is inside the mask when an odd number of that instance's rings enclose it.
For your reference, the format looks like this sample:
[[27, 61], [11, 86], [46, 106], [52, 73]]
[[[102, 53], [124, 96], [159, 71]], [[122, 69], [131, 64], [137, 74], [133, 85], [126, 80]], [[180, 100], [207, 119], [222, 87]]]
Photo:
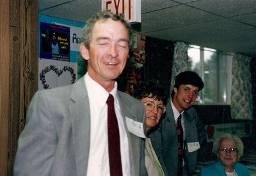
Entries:
[[253, 119], [251, 57], [235, 54], [232, 62], [231, 117]]

